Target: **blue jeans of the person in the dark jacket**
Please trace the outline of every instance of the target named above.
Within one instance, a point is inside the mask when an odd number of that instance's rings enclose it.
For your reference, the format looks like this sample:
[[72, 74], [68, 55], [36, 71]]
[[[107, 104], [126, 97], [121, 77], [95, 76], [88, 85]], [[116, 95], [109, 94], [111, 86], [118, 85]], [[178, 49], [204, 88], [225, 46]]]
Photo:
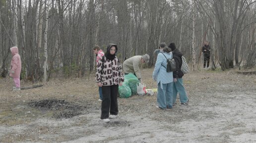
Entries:
[[183, 79], [177, 78], [177, 81], [173, 84], [173, 103], [176, 103], [177, 94], [180, 95], [181, 103], [188, 102], [188, 95], [183, 86]]

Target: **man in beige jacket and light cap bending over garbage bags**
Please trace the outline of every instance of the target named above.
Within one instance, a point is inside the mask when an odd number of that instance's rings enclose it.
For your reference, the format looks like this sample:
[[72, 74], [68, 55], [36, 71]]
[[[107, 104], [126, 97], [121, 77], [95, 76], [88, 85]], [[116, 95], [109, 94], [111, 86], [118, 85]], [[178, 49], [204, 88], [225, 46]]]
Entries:
[[143, 83], [141, 79], [140, 67], [143, 63], [148, 63], [148, 62], [149, 62], [148, 54], [145, 54], [143, 56], [133, 56], [125, 60], [125, 62], [123, 63], [123, 71], [125, 72], [125, 74], [133, 73], [139, 79], [139, 81]]

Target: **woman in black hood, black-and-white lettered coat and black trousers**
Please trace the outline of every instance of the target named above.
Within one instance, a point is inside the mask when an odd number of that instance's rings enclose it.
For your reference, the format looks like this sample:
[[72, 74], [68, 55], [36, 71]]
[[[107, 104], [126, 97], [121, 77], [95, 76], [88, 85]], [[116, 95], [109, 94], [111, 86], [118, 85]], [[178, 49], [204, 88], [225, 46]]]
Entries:
[[[121, 63], [116, 57], [117, 45], [109, 44], [102, 60], [98, 61], [96, 82], [102, 87], [101, 120], [109, 122], [109, 118], [118, 116], [118, 88], [122, 86], [124, 76]], [[109, 115], [110, 113], [110, 115]]]

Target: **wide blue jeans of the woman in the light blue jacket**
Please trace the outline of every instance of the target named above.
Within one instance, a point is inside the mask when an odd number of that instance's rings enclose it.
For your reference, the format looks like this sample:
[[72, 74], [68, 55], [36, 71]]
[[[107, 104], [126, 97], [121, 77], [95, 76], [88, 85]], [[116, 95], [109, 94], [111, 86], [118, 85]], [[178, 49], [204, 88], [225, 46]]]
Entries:
[[173, 107], [173, 82], [163, 84], [163, 89], [161, 88], [161, 82], [158, 83], [157, 87], [157, 104], [158, 107], [166, 109]]

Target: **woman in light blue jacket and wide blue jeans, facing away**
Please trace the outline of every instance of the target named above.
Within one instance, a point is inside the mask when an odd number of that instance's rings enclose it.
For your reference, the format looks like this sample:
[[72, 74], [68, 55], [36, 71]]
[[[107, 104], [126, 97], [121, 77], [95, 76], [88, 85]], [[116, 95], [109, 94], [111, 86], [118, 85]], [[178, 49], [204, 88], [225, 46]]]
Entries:
[[153, 79], [158, 84], [157, 104], [161, 109], [173, 107], [173, 72], [166, 72], [167, 59], [172, 57], [171, 49], [161, 43], [153, 72]]

